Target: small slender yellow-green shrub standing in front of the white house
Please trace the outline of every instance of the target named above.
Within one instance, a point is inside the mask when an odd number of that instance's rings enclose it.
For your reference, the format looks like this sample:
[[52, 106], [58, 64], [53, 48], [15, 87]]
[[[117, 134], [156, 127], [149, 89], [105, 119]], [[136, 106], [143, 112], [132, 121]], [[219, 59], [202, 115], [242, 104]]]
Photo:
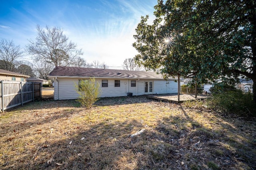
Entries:
[[100, 83], [95, 82], [94, 78], [79, 80], [78, 84], [75, 83], [75, 88], [79, 94], [77, 101], [82, 107], [86, 108], [86, 116], [89, 123], [92, 106], [101, 95]]

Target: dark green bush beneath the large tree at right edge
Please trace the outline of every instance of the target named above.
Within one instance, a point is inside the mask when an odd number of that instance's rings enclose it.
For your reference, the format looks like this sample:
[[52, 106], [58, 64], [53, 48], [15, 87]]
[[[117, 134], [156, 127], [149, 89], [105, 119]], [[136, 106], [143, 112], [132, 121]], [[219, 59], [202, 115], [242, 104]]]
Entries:
[[224, 112], [233, 112], [238, 115], [249, 113], [256, 116], [256, 107], [252, 93], [243, 93], [241, 90], [218, 91], [206, 100], [207, 106]]

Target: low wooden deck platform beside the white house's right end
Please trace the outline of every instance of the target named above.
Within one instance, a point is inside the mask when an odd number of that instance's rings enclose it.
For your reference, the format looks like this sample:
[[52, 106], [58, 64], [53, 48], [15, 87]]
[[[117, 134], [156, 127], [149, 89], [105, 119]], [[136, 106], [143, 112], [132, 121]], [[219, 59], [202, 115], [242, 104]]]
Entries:
[[180, 101], [178, 101], [178, 93], [159, 94], [159, 95], [147, 95], [146, 97], [150, 98], [150, 99], [157, 99], [159, 101], [168, 101], [168, 102], [174, 102], [174, 103], [182, 103], [184, 101], [206, 99], [209, 96], [197, 95], [197, 98], [195, 98], [195, 95], [180, 94]]

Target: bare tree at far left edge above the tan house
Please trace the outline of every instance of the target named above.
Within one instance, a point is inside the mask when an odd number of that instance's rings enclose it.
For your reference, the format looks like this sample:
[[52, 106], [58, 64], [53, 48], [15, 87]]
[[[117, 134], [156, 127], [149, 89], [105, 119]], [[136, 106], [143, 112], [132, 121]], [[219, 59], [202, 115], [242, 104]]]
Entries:
[[0, 41], [0, 60], [2, 60], [1, 68], [12, 71], [14, 63], [22, 57], [22, 50], [20, 45], [15, 45], [13, 41], [2, 39]]

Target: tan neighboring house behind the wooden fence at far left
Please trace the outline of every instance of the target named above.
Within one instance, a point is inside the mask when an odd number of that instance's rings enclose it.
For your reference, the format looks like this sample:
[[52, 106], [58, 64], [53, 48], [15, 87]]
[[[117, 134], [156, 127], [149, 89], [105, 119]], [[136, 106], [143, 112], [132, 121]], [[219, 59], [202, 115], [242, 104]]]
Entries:
[[28, 75], [0, 69], [0, 80], [3, 80], [3, 81], [24, 81], [25, 82], [26, 78], [28, 77], [29, 77]]

